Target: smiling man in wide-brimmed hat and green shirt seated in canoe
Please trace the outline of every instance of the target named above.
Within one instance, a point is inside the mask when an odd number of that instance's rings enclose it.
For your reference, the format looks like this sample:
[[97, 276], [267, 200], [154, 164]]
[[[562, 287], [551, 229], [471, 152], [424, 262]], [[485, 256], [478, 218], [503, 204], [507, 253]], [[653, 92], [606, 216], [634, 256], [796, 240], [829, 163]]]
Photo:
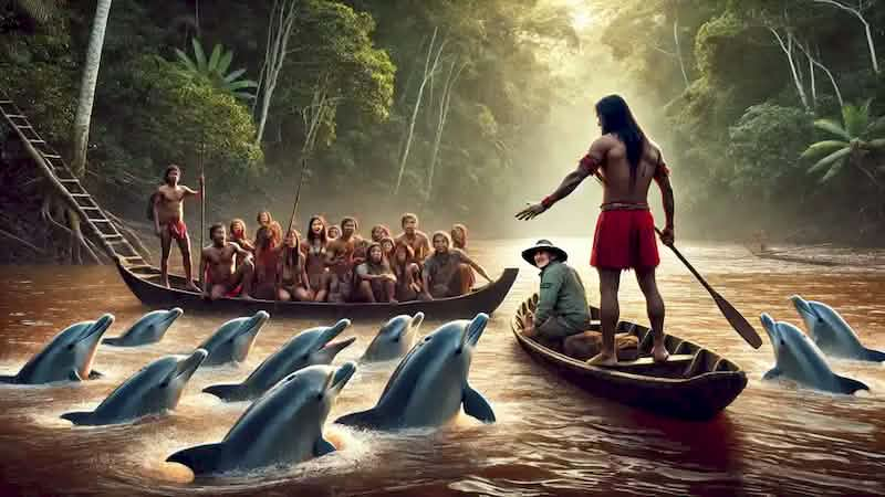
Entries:
[[590, 327], [586, 294], [577, 272], [565, 264], [569, 254], [549, 240], [539, 240], [522, 251], [522, 258], [541, 269], [538, 307], [523, 335], [556, 347], [585, 331]]

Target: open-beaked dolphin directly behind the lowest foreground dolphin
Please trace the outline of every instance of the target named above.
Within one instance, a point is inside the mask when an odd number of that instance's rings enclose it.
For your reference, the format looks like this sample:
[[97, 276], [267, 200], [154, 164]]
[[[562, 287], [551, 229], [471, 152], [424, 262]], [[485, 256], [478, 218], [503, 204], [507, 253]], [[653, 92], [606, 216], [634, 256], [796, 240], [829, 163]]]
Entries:
[[202, 391], [229, 402], [257, 399], [277, 382], [300, 369], [314, 364], [331, 364], [340, 351], [356, 340], [355, 337], [351, 337], [346, 340], [332, 341], [348, 326], [351, 321], [342, 319], [334, 326], [304, 330], [264, 359], [264, 362], [242, 383], [214, 384]]

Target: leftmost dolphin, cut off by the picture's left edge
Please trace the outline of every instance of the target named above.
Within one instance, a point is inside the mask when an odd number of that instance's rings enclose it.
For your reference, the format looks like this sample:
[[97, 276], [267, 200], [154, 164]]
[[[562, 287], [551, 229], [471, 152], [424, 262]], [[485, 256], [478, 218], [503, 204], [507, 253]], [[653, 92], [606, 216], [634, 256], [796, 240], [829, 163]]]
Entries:
[[114, 316], [105, 314], [97, 320], [69, 326], [32, 357], [18, 374], [0, 377], [0, 382], [39, 384], [101, 377], [92, 370], [92, 362], [102, 335], [113, 322]]

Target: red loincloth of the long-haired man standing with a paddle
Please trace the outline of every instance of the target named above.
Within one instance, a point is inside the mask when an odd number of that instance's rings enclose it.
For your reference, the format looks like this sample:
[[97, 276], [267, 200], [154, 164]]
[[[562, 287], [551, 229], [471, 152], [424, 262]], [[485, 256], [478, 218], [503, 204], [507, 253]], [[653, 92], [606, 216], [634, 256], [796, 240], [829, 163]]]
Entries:
[[603, 210], [596, 220], [590, 264], [604, 269], [657, 267], [655, 220], [643, 209]]

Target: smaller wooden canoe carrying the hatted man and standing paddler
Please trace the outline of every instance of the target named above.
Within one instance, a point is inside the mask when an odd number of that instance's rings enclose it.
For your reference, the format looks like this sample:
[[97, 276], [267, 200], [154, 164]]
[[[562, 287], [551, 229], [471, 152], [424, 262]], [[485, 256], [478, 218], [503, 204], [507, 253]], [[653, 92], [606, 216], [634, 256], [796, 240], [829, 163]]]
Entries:
[[[727, 408], [747, 387], [747, 374], [735, 362], [674, 335], [667, 335], [670, 358], [655, 363], [649, 356], [650, 329], [621, 321], [617, 335], [635, 337], [635, 360], [620, 361], [613, 367], [589, 366], [584, 360], [544, 347], [522, 336], [527, 316], [534, 313], [538, 294], [524, 300], [517, 310], [511, 328], [520, 346], [555, 373], [600, 396], [657, 414], [707, 420]], [[590, 330], [598, 330], [600, 309], [591, 310]], [[626, 341], [626, 340], [625, 340]]]

